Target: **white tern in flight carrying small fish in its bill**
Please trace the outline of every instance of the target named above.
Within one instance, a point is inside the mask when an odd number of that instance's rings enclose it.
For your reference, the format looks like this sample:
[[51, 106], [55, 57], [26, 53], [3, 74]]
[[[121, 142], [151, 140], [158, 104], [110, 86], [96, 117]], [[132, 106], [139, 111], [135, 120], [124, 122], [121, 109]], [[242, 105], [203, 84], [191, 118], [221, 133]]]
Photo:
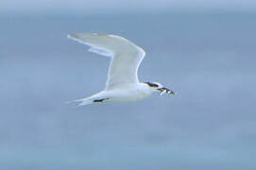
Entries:
[[117, 35], [77, 33], [67, 36], [89, 45], [90, 52], [111, 57], [105, 90], [92, 96], [77, 99], [78, 106], [103, 102], [132, 102], [148, 98], [155, 92], [176, 94], [158, 82], [140, 82], [138, 68], [145, 51], [135, 43]]

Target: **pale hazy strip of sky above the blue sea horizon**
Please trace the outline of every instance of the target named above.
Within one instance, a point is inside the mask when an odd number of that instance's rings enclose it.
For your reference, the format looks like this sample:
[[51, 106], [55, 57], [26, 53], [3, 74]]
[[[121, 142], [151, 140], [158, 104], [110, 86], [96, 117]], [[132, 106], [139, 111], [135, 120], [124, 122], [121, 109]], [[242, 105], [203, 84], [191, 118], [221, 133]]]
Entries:
[[255, 0], [9, 0], [0, 2], [4, 14], [115, 13], [124, 11], [255, 11]]

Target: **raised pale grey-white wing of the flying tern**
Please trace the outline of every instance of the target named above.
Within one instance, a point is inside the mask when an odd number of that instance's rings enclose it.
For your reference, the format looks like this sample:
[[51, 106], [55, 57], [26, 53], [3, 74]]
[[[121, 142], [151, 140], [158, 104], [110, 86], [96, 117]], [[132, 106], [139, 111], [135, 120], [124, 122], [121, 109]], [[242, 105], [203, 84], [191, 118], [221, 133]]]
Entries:
[[145, 51], [127, 39], [117, 35], [77, 33], [68, 38], [91, 46], [90, 52], [111, 57], [106, 90], [136, 85], [137, 71], [145, 57]]

